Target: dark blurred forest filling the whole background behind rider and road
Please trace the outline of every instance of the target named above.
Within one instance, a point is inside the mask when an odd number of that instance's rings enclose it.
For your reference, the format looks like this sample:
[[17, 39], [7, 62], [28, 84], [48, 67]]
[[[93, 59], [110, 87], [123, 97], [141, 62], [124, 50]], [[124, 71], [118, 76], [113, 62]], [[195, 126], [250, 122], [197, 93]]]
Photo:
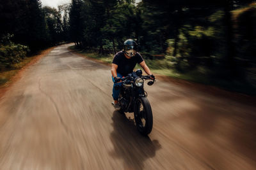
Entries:
[[0, 71], [69, 42], [111, 62], [132, 38], [154, 73], [256, 94], [255, 1], [0, 2]]

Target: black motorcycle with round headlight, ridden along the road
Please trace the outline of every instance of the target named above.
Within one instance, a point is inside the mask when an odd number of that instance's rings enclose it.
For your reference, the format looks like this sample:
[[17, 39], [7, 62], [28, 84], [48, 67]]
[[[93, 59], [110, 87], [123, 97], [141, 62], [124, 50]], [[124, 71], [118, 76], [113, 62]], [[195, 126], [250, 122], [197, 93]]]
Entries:
[[117, 87], [121, 88], [118, 96], [119, 112], [133, 112], [138, 131], [143, 136], [147, 136], [152, 131], [153, 115], [143, 85], [145, 80], [150, 80], [148, 85], [153, 85], [156, 80], [152, 80], [150, 76], [143, 76], [141, 69], [137, 69], [121, 80]]

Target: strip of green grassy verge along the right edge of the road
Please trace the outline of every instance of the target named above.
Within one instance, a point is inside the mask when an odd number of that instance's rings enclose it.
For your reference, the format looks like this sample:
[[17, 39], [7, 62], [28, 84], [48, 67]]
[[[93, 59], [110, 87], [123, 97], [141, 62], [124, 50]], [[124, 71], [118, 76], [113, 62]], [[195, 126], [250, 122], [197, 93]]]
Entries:
[[[77, 50], [74, 46], [70, 46], [70, 50], [75, 50], [78, 53], [81, 53], [84, 56], [91, 57], [93, 59], [101, 60], [102, 62], [111, 63], [113, 60], [113, 55], [99, 55], [98, 53], [92, 52], [90, 50], [80, 51]], [[256, 87], [243, 81], [238, 80], [227, 80], [225, 78], [212, 77], [207, 74], [204, 68], [200, 68], [193, 71], [188, 71], [186, 73], [178, 73], [175, 71], [172, 66], [172, 62], [168, 57], [163, 60], [150, 60], [145, 59], [147, 66], [150, 67], [152, 73], [161, 74], [164, 76], [170, 76], [172, 78], [179, 78], [182, 80], [193, 81], [196, 83], [202, 83], [204, 85], [213, 85], [225, 89], [228, 91], [241, 92], [244, 94], [255, 95]], [[137, 64], [134, 69], [141, 69]]]

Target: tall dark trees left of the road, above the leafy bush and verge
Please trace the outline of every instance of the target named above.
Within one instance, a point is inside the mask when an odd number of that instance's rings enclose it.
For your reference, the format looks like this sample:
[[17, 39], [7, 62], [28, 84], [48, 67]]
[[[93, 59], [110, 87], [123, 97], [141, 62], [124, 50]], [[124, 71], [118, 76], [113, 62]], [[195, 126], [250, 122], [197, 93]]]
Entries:
[[11, 34], [14, 43], [29, 46], [32, 52], [67, 41], [68, 10], [67, 4], [58, 10], [42, 8], [40, 0], [1, 1], [0, 38]]

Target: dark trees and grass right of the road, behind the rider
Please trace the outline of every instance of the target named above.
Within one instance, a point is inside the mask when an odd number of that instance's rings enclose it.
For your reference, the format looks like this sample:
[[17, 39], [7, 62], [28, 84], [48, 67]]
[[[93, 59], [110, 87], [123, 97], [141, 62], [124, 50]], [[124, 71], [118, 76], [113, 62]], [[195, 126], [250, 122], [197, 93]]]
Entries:
[[70, 6], [70, 39], [89, 57], [110, 62], [132, 38], [154, 73], [256, 93], [255, 1], [104, 2]]

